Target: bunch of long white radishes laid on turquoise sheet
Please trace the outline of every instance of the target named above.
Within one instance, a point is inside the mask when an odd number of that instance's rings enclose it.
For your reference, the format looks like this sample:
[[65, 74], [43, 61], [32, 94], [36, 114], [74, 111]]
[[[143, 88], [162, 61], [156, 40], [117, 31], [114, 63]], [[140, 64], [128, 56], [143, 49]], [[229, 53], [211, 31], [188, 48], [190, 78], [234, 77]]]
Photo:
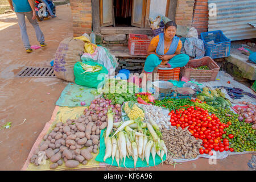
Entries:
[[[132, 110], [133, 108], [128, 109]], [[125, 166], [126, 156], [128, 158], [131, 156], [134, 160], [134, 168], [136, 168], [138, 158], [146, 160], [148, 164], [150, 154], [152, 154], [154, 163], [156, 154], [163, 160], [164, 154], [167, 155], [167, 148], [164, 141], [160, 139], [162, 133], [158, 125], [150, 118], [144, 127], [142, 121], [141, 117], [138, 117], [123, 123], [113, 123], [113, 119], [109, 117], [105, 133], [104, 162], [112, 157], [112, 163], [115, 159], [119, 166], [119, 161], [121, 160], [122, 163], [123, 160]], [[134, 124], [136, 125], [134, 126]], [[113, 130], [114, 127], [116, 129]], [[136, 127], [136, 130], [131, 127]]]

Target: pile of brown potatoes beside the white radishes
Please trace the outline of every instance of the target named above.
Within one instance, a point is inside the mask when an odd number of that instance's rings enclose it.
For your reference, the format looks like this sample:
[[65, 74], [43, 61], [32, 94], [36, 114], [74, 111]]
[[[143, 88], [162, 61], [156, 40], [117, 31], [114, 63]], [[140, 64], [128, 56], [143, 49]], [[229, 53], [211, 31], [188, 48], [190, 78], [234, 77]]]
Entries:
[[[91, 153], [97, 153], [100, 147], [100, 131], [107, 126], [107, 122], [98, 126], [95, 122], [96, 118], [81, 115], [78, 119], [56, 123], [51, 133], [44, 136], [44, 141], [34, 152], [30, 163], [39, 166], [40, 152], [44, 151], [46, 159], [52, 162], [51, 169], [61, 166], [63, 160], [68, 168], [75, 168], [80, 163], [86, 165], [93, 157]], [[87, 148], [82, 149], [85, 147]]]

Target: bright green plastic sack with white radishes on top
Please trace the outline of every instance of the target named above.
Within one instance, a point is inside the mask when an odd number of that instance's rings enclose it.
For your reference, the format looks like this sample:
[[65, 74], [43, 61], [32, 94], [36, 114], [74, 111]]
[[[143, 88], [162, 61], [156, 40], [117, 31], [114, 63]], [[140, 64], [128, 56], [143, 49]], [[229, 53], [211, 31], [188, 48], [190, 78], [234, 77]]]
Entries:
[[[102, 69], [98, 72], [85, 72], [82, 69], [81, 63], [89, 65], [100, 65]], [[85, 73], [83, 73], [85, 72]], [[89, 88], [98, 88], [105, 84], [105, 76], [108, 75], [109, 71], [104, 65], [94, 63], [92, 61], [77, 62], [74, 66], [75, 83], [77, 85], [88, 86]], [[99, 77], [98, 77], [99, 76]]]

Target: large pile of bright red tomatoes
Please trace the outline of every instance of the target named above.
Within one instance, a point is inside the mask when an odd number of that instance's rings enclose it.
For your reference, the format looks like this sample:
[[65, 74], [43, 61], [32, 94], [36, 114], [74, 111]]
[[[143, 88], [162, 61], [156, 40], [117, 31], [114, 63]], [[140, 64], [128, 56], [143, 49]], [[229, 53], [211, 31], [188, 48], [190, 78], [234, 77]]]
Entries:
[[[176, 113], [176, 114], [175, 114]], [[204, 110], [200, 107], [188, 107], [185, 109], [172, 110], [169, 115], [171, 116], [170, 122], [172, 126], [181, 127], [184, 129], [188, 127], [188, 130], [196, 139], [203, 140], [203, 144], [199, 149], [200, 154], [209, 154], [212, 149], [215, 151], [223, 152], [233, 151], [233, 148], [229, 148], [229, 140], [224, 139], [221, 142], [222, 134], [225, 127], [229, 127], [231, 123], [221, 123], [220, 119], [215, 114], [209, 115], [208, 110]], [[210, 152], [210, 153], [209, 153]]]

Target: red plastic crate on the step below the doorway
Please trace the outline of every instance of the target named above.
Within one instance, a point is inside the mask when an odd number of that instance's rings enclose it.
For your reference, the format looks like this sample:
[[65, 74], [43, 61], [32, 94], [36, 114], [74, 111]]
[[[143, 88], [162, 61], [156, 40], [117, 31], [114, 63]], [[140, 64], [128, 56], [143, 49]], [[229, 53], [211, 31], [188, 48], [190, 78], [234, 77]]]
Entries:
[[[137, 39], [134, 39], [137, 38]], [[143, 34], [129, 34], [128, 48], [130, 55], [147, 55], [147, 47], [150, 39]]]

